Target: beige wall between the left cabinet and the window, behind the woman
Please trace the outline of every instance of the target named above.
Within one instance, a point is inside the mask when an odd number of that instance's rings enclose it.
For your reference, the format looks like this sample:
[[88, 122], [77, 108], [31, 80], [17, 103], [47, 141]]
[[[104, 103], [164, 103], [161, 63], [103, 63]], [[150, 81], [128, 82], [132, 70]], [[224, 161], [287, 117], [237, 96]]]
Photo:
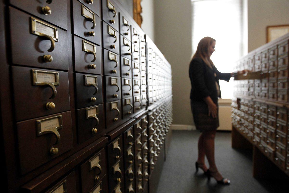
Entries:
[[154, 1], [155, 44], [172, 66], [173, 124], [192, 125], [190, 79], [192, 55], [190, 0]]

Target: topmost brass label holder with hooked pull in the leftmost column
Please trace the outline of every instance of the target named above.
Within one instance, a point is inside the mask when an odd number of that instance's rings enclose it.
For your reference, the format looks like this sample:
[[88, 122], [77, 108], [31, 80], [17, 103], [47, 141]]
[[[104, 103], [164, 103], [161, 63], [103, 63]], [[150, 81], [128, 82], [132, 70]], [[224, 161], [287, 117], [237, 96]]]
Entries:
[[51, 41], [51, 47], [47, 51], [52, 52], [55, 48], [55, 42], [58, 42], [58, 29], [34, 17], [31, 17], [30, 19], [31, 33], [49, 39]]

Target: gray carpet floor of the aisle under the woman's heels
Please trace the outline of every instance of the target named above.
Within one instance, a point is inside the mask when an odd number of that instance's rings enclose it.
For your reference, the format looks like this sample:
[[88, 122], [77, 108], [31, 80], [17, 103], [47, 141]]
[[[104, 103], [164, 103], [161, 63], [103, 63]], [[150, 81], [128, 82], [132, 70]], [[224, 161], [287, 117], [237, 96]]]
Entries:
[[200, 170], [195, 173], [199, 135], [200, 132], [196, 130], [173, 130], [157, 193], [289, 192], [284, 182], [253, 178], [252, 151], [231, 148], [230, 132], [217, 132], [215, 154], [219, 171], [231, 180], [231, 184], [220, 185], [213, 178], [208, 181]]

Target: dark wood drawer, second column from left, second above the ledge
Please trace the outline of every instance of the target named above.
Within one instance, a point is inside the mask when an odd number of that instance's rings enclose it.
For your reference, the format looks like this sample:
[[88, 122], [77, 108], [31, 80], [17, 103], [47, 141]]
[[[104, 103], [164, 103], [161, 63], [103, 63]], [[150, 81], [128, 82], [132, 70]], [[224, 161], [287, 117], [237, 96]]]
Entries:
[[75, 73], [77, 109], [100, 104], [102, 100], [102, 76]]

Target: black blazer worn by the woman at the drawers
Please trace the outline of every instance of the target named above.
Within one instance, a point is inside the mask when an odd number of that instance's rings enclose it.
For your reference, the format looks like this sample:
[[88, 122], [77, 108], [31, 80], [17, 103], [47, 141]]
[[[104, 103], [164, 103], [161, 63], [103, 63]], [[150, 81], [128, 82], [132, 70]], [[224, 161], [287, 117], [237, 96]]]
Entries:
[[[214, 73], [216, 73], [216, 77]], [[201, 58], [194, 58], [191, 61], [189, 75], [192, 84], [190, 99], [203, 100], [210, 96], [215, 103], [218, 101], [218, 97], [221, 98], [221, 91], [218, 96], [215, 81], [220, 87], [219, 80], [229, 82], [231, 78], [231, 73], [221, 73], [215, 66], [211, 69]]]

